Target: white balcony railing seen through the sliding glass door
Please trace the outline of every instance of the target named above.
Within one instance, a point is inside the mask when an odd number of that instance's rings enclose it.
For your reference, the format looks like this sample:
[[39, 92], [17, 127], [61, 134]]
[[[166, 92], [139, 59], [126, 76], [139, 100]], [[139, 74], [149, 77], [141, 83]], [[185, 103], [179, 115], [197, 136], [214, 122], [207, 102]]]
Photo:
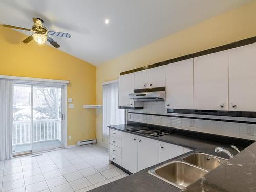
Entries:
[[[13, 121], [12, 144], [31, 143], [31, 120]], [[42, 119], [33, 121], [33, 142], [61, 140], [61, 119]]]

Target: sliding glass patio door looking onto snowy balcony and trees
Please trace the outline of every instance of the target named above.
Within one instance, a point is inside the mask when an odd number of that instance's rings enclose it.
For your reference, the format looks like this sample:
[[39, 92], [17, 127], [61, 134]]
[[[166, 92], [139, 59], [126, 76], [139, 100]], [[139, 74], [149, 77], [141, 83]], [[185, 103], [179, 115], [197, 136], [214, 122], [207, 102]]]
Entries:
[[63, 88], [13, 85], [13, 153], [62, 147]]

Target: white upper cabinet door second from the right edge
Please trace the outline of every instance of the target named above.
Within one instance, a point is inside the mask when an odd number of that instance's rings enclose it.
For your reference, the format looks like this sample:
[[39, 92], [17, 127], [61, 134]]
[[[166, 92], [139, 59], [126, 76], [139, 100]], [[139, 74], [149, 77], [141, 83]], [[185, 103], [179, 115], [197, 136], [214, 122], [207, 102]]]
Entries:
[[228, 110], [229, 50], [194, 58], [193, 108]]

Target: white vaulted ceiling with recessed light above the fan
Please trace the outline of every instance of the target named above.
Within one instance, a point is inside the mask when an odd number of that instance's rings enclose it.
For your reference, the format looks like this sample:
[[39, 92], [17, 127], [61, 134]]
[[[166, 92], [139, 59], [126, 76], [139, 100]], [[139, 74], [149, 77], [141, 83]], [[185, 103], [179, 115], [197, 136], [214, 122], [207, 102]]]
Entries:
[[[48, 30], [71, 34], [70, 39], [52, 37], [60, 45], [58, 49], [100, 65], [247, 2], [249, 0], [1, 0], [0, 24], [31, 28], [32, 17], [40, 17]], [[108, 25], [105, 19], [109, 19]]]

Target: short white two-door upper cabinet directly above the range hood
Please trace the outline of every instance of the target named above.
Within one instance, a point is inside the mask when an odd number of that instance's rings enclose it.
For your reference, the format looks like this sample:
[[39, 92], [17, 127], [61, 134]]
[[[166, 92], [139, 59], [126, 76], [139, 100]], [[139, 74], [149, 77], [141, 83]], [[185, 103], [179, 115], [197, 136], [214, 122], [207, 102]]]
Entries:
[[155, 67], [134, 73], [134, 88], [156, 88], [165, 86], [165, 66]]

